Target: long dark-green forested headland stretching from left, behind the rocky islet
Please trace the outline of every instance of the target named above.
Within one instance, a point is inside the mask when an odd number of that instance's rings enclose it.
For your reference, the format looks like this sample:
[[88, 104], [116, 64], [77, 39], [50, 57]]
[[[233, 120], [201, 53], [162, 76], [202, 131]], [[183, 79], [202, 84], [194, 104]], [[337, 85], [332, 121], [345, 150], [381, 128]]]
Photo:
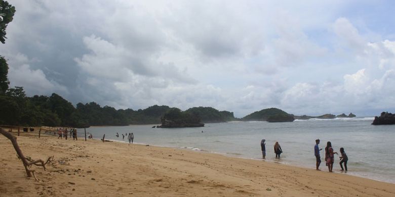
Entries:
[[[0, 94], [0, 125], [21, 126], [123, 126], [129, 124], [160, 124], [169, 106], [151, 106], [143, 110], [101, 107], [95, 102], [74, 107], [60, 95], [26, 96], [22, 87], [8, 89]], [[191, 108], [185, 111], [198, 115], [202, 122], [226, 122], [234, 120], [232, 112], [210, 107]]]

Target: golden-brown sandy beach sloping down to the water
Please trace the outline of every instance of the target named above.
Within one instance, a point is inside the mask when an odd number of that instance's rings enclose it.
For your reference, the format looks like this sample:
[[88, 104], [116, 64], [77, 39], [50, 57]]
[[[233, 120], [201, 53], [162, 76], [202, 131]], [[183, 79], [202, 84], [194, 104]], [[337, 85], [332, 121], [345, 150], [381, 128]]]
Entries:
[[322, 171], [316, 171], [191, 150], [73, 141], [45, 134], [19, 136], [18, 143], [25, 156], [54, 156], [55, 162], [47, 165], [47, 171], [32, 167], [39, 181], [26, 178], [10, 140], [0, 134], [0, 196], [395, 196], [395, 184], [329, 173], [324, 163]]

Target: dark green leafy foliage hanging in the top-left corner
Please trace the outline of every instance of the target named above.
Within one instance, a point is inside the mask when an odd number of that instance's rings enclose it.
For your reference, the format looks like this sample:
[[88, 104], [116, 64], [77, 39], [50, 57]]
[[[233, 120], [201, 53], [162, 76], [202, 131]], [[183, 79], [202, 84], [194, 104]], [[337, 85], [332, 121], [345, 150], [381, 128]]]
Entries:
[[15, 7], [7, 1], [0, 0], [0, 41], [6, 43], [6, 28], [14, 19]]

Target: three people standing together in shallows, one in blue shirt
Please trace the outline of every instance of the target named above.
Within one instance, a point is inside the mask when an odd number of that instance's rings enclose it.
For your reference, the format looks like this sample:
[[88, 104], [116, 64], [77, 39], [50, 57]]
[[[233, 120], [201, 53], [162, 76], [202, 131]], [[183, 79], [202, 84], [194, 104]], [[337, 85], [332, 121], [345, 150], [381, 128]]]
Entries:
[[[320, 149], [318, 147], [318, 144], [320, 144], [320, 139], [316, 139], [315, 140], [315, 146], [314, 146], [314, 155], [315, 155], [315, 159], [316, 161], [316, 169], [320, 170], [320, 164], [321, 164], [321, 156], [320, 156], [320, 151], [322, 149]], [[335, 162], [335, 154], [339, 155], [337, 152], [334, 152], [332, 149], [332, 143], [330, 141], [327, 142], [327, 146], [325, 147], [325, 162], [326, 165], [328, 166], [328, 170], [329, 172], [332, 172], [333, 169], [333, 163]], [[347, 171], [347, 161], [348, 161], [348, 157], [347, 154], [344, 152], [344, 148], [341, 147], [340, 148], [340, 168], [341, 171]], [[343, 168], [343, 164], [344, 164], [344, 168]]]

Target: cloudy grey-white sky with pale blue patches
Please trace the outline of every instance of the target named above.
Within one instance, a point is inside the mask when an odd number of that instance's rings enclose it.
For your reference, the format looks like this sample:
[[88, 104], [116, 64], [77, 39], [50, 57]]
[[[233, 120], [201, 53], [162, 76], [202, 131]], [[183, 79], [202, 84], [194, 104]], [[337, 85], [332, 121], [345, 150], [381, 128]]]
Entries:
[[394, 1], [8, 1], [11, 87], [244, 117], [395, 111]]

